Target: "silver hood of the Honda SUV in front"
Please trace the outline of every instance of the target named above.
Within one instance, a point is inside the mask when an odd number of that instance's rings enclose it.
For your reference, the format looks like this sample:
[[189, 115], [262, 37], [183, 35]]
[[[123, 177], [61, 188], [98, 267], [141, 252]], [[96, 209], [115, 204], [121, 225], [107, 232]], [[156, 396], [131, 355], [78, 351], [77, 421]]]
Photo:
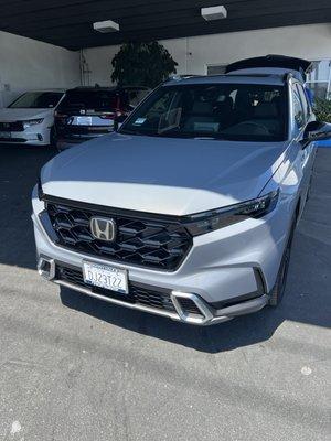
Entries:
[[41, 181], [66, 200], [186, 215], [257, 197], [286, 147], [114, 133], [58, 154]]

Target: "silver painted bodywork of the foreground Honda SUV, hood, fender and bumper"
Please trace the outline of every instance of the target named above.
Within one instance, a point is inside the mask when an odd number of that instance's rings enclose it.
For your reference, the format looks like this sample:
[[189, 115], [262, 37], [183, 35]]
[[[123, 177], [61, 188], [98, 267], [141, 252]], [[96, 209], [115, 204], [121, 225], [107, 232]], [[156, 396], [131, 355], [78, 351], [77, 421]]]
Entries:
[[[277, 79], [273, 80], [277, 84]], [[125, 267], [132, 281], [194, 293], [207, 304], [235, 301], [256, 292], [255, 270], [258, 270], [265, 291], [260, 309], [276, 282], [293, 215], [303, 209], [316, 152], [313, 143], [302, 150], [299, 143], [302, 132], [293, 123], [291, 97], [288, 105], [288, 141], [253, 143], [114, 133], [50, 161], [41, 175], [43, 191], [109, 207], [186, 215], [253, 200], [279, 189], [277, 207], [265, 217], [248, 218], [194, 237], [192, 249], [175, 271], [88, 257], [96, 262]], [[45, 233], [39, 218], [44, 203], [39, 200], [36, 189], [32, 202], [38, 254], [82, 268], [85, 255], [56, 246]]]

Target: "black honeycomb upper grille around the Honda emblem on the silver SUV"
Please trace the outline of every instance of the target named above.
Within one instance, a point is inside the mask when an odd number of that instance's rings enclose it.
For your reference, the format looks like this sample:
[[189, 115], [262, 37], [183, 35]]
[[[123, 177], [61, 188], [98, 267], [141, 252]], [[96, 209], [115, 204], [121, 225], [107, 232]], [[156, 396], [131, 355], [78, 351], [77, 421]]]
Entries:
[[[45, 200], [47, 196], [45, 196]], [[74, 203], [73, 203], [74, 204]], [[175, 270], [192, 247], [192, 237], [178, 222], [162, 216], [147, 217], [135, 212], [77, 207], [63, 202], [46, 203], [60, 246], [90, 256], [158, 270]], [[116, 223], [115, 241], [94, 238], [89, 223], [93, 216], [109, 217]]]

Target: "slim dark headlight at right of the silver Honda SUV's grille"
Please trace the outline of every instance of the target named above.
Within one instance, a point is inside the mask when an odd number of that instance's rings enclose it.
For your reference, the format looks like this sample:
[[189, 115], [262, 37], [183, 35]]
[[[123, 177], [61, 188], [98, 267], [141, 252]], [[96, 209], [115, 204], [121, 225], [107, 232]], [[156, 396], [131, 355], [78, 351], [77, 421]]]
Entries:
[[249, 217], [258, 218], [270, 213], [278, 201], [279, 190], [268, 193], [256, 200], [216, 208], [210, 212], [197, 213], [186, 217], [185, 227], [192, 236], [199, 236], [226, 227]]

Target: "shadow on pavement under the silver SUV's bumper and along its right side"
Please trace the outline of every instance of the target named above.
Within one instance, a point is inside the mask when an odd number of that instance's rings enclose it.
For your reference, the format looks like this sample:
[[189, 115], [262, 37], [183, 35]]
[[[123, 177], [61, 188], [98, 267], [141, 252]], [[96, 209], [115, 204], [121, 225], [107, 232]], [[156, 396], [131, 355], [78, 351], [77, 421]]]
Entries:
[[220, 325], [195, 327], [168, 319], [108, 305], [62, 289], [64, 305], [132, 332], [206, 353], [231, 351], [269, 340], [284, 321], [331, 325], [331, 150], [318, 152], [311, 196], [295, 234], [286, 294], [277, 309]]

